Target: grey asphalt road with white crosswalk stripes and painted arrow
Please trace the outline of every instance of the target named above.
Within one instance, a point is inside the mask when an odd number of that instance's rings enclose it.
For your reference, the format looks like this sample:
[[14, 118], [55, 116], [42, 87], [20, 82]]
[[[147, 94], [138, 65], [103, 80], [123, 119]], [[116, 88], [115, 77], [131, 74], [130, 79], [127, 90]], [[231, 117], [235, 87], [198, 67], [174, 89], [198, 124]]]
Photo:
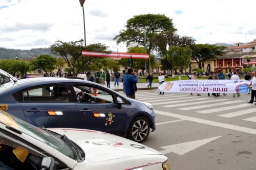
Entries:
[[156, 113], [157, 130], [143, 144], [164, 153], [172, 169], [256, 169], [256, 105], [247, 104], [249, 94], [141, 90], [136, 99]]

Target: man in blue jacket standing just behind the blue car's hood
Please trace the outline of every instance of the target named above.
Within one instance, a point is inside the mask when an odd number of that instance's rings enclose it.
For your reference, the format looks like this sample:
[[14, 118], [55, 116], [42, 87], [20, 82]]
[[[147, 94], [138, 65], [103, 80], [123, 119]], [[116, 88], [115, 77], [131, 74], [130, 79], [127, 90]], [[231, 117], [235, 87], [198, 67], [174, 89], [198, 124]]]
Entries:
[[125, 90], [125, 94], [129, 98], [135, 99], [135, 87], [138, 78], [132, 68], [127, 70], [127, 73], [123, 77], [123, 86]]

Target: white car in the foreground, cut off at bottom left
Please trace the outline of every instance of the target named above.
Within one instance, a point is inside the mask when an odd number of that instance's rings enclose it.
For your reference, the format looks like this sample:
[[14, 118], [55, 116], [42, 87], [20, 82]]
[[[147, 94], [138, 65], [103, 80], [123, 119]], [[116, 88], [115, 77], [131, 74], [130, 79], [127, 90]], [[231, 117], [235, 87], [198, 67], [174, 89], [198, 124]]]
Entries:
[[0, 169], [170, 169], [166, 156], [141, 143], [94, 130], [37, 128], [2, 110], [0, 143]]

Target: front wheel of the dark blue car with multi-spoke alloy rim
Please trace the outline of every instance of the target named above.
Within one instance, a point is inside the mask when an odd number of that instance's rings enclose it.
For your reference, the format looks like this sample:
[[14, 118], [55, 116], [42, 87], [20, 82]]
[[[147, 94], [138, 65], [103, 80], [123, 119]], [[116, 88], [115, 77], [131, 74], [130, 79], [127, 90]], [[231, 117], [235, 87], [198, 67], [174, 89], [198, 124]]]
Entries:
[[127, 137], [136, 142], [143, 142], [150, 134], [150, 123], [145, 117], [135, 117], [129, 127]]

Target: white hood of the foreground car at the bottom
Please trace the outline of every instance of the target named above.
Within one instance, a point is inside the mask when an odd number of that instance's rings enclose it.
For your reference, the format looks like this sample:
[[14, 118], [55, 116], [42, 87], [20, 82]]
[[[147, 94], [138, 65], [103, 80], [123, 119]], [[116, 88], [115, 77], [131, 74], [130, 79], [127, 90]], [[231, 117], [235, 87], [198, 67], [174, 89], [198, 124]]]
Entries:
[[[76, 142], [91, 161], [104, 161], [139, 155], [161, 154], [141, 143], [116, 135], [85, 129], [50, 128]], [[162, 155], [162, 154], [161, 154]]]

